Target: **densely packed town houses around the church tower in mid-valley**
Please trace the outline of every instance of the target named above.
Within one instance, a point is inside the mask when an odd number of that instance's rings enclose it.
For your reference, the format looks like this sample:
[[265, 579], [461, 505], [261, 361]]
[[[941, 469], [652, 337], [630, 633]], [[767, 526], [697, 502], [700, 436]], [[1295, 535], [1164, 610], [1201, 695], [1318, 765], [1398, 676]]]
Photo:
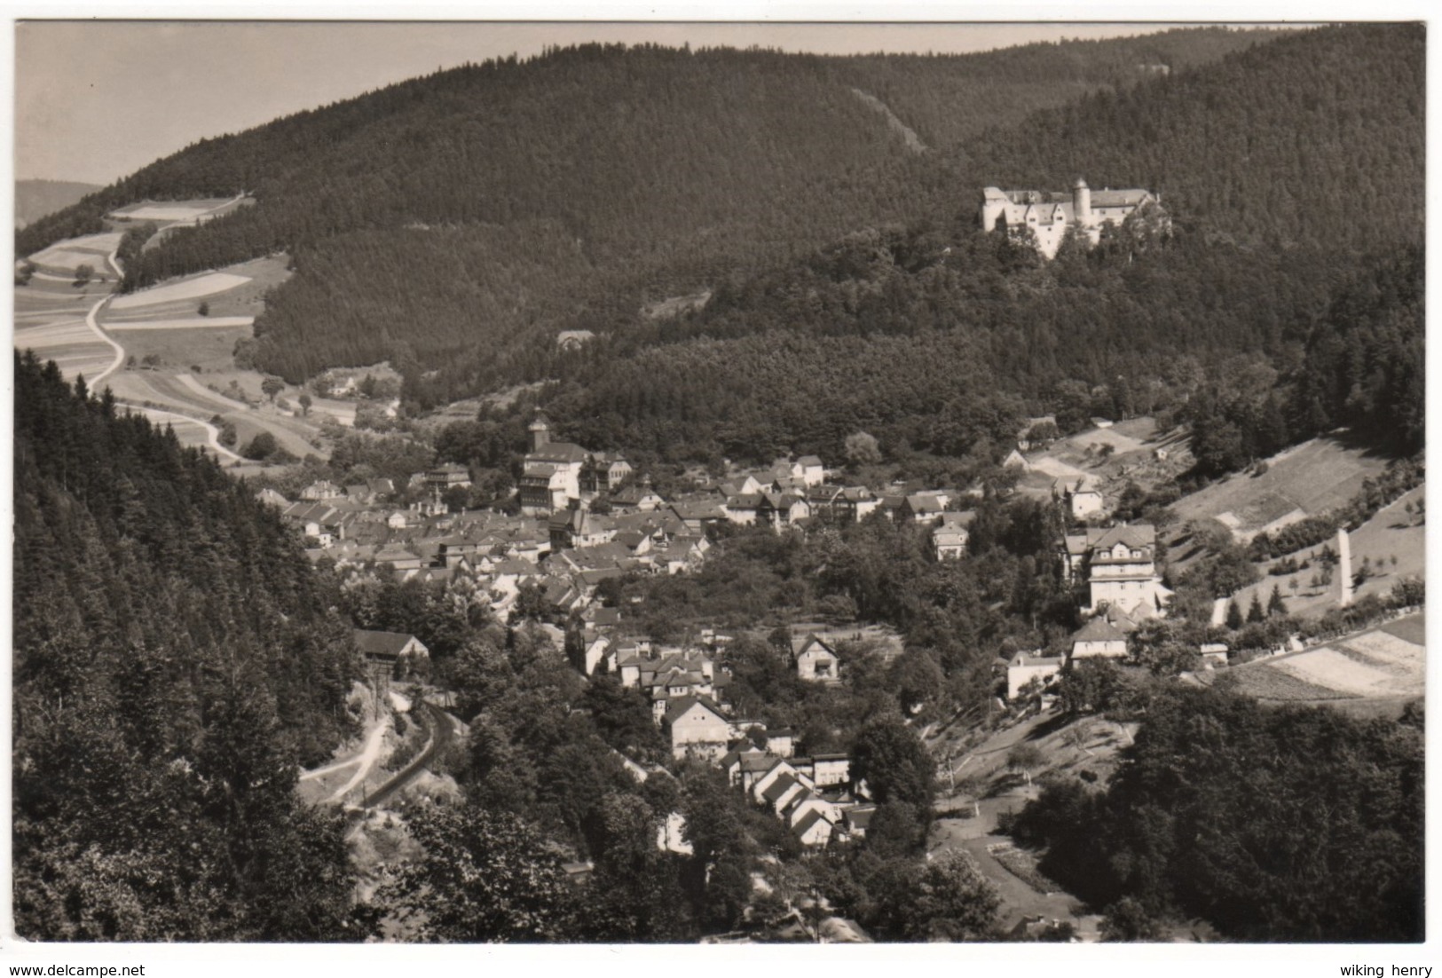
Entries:
[[552, 441], [544, 417], [531, 423], [529, 434], [519, 515], [450, 512], [441, 496], [470, 485], [470, 472], [459, 464], [415, 473], [410, 488], [430, 495], [408, 506], [394, 503], [389, 479], [323, 479], [294, 502], [271, 489], [260, 496], [300, 529], [311, 558], [327, 557], [342, 568], [373, 565], [402, 581], [463, 577], [489, 594], [502, 617], [526, 586], [539, 587], [548, 607], [564, 616], [587, 607], [607, 577], [695, 571], [711, 547], [707, 531], [721, 524], [780, 531], [823, 514], [855, 522], [883, 512], [929, 527], [937, 560], [966, 552], [972, 514], [960, 508], [963, 493], [833, 485], [819, 457], [803, 456], [730, 479], [702, 479], [668, 501], [649, 480], [633, 480], [620, 456]]

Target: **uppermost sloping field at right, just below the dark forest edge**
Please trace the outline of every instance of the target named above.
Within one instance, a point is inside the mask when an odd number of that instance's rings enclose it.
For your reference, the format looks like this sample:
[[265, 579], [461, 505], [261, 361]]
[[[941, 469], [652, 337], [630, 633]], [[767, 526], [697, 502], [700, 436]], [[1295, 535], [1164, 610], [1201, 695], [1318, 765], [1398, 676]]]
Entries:
[[1178, 522], [1216, 519], [1242, 542], [1265, 529], [1341, 506], [1387, 459], [1335, 439], [1314, 439], [1268, 459], [1260, 476], [1234, 473], [1177, 501]]

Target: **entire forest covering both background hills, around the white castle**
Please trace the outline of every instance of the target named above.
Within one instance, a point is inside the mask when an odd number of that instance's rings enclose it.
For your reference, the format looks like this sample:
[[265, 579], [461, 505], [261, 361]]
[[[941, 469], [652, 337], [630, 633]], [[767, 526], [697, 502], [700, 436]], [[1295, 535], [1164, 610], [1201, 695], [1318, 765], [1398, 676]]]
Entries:
[[[1407, 26], [965, 58], [564, 49], [202, 143], [22, 244], [97, 202], [249, 189], [137, 251], [128, 286], [288, 250], [265, 369], [389, 359], [411, 410], [555, 379], [571, 437], [673, 459], [835, 457], [858, 430], [893, 459], [986, 457], [1027, 414], [1144, 411], [1204, 433], [1200, 475], [1337, 424], [1410, 451], [1422, 50]], [[979, 188], [1074, 175], [1159, 192], [1169, 226], [1051, 263], [979, 234]], [[557, 349], [570, 327], [597, 339]]]

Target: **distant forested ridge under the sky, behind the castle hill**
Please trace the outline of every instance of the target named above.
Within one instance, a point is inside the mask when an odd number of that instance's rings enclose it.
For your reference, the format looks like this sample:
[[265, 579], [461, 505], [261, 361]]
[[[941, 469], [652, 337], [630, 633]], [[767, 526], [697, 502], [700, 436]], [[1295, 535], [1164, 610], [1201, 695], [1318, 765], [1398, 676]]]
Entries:
[[[1273, 36], [934, 58], [552, 50], [202, 141], [26, 229], [19, 251], [136, 199], [251, 192], [257, 206], [146, 251], [127, 287], [286, 250], [298, 274], [257, 323], [265, 369], [298, 381], [414, 355], [415, 375], [453, 368], [412, 384], [417, 398], [448, 400], [544, 371], [535, 351], [558, 329], [609, 326], [855, 228], [969, 211], [947, 160], [988, 125]], [[932, 150], [914, 154], [857, 91]]]

